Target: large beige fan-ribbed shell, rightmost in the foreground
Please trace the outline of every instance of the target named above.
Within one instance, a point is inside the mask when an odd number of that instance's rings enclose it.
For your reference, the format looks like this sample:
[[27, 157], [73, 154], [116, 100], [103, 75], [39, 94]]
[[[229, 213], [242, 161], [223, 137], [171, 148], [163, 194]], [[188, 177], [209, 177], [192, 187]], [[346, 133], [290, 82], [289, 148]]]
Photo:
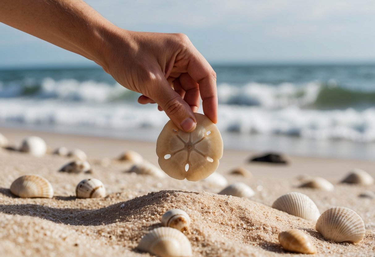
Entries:
[[315, 229], [324, 239], [336, 243], [359, 243], [365, 236], [365, 223], [353, 210], [345, 207], [332, 207], [319, 217]]

